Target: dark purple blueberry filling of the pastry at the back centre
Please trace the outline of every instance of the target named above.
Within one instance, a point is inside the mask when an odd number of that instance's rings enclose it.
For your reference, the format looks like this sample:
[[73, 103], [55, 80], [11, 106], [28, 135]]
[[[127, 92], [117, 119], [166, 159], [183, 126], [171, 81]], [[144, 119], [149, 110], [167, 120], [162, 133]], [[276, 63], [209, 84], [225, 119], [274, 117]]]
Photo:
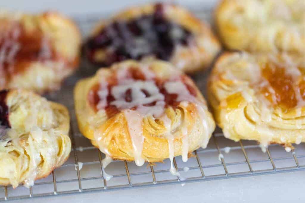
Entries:
[[[169, 60], [177, 45], [188, 46], [193, 36], [184, 27], [170, 22], [164, 6], [155, 5], [155, 12], [130, 21], [116, 21], [106, 26], [85, 44], [86, 55], [96, 65], [111, 65], [125, 59], [141, 59], [154, 55]], [[106, 51], [102, 61], [96, 59], [98, 50]]]

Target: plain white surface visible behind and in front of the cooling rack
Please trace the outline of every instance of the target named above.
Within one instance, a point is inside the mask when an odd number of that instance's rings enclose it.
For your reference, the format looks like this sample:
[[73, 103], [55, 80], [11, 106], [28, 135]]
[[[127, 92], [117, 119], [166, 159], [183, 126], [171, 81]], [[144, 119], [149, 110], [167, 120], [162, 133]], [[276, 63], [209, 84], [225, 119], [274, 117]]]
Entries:
[[[70, 16], [90, 13], [112, 13], [127, 5], [148, 1], [95, 0], [0, 0], [0, 8], [40, 12], [58, 10]], [[215, 1], [174, 1], [196, 5], [197, 9], [210, 7]], [[68, 195], [61, 197], [22, 200], [22, 202], [304, 202], [305, 171], [244, 177], [181, 185], [168, 185], [104, 193]], [[14, 201], [11, 201], [14, 202]]]

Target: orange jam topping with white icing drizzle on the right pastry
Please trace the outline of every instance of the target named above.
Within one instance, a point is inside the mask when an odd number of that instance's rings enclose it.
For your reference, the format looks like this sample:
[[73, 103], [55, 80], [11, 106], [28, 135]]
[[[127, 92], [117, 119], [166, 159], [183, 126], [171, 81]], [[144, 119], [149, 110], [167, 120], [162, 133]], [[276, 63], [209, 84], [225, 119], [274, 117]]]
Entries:
[[[255, 57], [258, 58], [259, 63]], [[247, 87], [238, 85], [233, 89], [234, 93], [240, 92], [247, 103], [256, 103], [260, 108], [260, 116], [253, 116], [252, 119], [257, 123], [256, 130], [260, 134], [259, 142], [263, 152], [274, 136], [272, 131], [267, 130], [267, 125], [270, 125], [274, 119], [282, 119], [283, 113], [295, 110], [296, 128], [302, 128], [300, 117], [305, 106], [305, 81], [304, 66], [299, 60], [293, 60], [286, 53], [251, 57], [245, 52], [234, 55], [230, 60], [229, 64], [220, 67], [225, 79], [232, 80], [234, 85], [247, 83], [248, 87], [254, 90], [255, 97], [252, 97], [250, 94], [253, 93], [248, 91]], [[242, 72], [240, 68], [243, 68]], [[275, 110], [279, 115], [274, 117]], [[225, 135], [228, 136], [230, 133]], [[299, 143], [299, 139], [296, 142]]]

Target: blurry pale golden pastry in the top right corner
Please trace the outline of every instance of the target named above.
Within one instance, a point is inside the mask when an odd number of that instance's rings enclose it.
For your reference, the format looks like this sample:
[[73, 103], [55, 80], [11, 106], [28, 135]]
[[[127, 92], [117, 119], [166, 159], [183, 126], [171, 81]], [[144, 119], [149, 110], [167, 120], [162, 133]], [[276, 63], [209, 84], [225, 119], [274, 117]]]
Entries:
[[222, 0], [215, 19], [229, 49], [305, 52], [303, 0]]

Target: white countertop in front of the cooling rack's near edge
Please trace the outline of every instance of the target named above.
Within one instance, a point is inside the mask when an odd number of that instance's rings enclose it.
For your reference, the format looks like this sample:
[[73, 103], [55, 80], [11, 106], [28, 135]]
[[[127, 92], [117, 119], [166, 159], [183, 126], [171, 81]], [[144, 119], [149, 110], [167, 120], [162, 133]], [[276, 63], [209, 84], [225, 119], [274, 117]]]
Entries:
[[[305, 171], [121, 191], [34, 198], [23, 202], [304, 202]], [[10, 201], [18, 202], [18, 201]]]

